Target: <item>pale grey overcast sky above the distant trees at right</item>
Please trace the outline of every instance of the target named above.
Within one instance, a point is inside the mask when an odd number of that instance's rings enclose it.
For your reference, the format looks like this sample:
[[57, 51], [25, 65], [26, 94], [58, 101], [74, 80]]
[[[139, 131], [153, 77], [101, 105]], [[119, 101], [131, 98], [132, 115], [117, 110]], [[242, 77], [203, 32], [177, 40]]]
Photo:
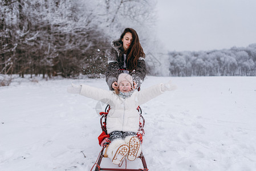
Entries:
[[169, 51], [256, 43], [256, 0], [158, 0], [158, 34]]

